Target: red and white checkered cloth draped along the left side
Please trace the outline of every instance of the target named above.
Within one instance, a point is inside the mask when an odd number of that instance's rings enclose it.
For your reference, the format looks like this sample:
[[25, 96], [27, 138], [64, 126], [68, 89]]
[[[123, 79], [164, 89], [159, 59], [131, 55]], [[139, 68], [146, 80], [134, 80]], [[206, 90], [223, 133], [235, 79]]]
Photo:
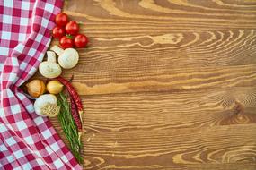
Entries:
[[0, 1], [0, 169], [82, 169], [19, 87], [49, 47], [59, 0]]

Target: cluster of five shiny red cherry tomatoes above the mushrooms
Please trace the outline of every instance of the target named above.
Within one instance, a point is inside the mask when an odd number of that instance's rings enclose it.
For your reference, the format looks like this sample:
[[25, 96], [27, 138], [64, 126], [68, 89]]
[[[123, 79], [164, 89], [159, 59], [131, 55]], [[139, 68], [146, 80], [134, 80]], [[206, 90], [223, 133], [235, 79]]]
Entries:
[[85, 47], [88, 38], [79, 34], [79, 25], [76, 21], [68, 21], [66, 13], [58, 13], [55, 22], [57, 26], [52, 30], [53, 38], [59, 38], [60, 47]]

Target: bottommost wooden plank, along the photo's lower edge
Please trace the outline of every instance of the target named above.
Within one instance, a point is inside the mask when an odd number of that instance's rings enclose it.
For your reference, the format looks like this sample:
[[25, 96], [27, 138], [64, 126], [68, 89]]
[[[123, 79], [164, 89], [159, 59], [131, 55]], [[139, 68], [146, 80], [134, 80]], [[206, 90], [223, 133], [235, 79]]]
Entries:
[[[87, 133], [88, 169], [255, 163], [255, 124], [161, 131]], [[97, 160], [97, 161], [96, 161]], [[99, 161], [101, 160], [101, 161]], [[86, 167], [85, 166], [85, 167]], [[129, 168], [129, 166], [131, 166]], [[110, 166], [111, 167], [111, 166]], [[250, 167], [250, 166], [249, 166]], [[255, 165], [254, 165], [255, 167]]]

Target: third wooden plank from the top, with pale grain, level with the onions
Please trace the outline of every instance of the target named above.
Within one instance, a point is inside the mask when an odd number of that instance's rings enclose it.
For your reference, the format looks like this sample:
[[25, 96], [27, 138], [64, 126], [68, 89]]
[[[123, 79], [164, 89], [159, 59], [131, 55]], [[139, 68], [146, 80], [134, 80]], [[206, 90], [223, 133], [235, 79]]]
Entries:
[[[66, 79], [71, 74], [75, 76], [73, 85], [80, 95], [251, 87], [256, 84], [255, 64], [182, 69], [166, 68], [163, 65], [156, 69], [137, 67], [137, 71], [102, 68], [102, 72], [101, 69], [92, 72], [84, 68], [86, 66], [82, 64], [73, 72], [63, 74]], [[36, 77], [40, 77], [39, 73]]]

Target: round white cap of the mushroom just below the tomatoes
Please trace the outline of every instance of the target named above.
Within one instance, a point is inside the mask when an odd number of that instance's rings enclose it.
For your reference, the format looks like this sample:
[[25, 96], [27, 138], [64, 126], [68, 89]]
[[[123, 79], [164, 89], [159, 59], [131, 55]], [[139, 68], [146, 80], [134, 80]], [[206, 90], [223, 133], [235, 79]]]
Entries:
[[64, 52], [58, 56], [57, 62], [64, 69], [72, 69], [78, 63], [79, 55], [74, 48], [66, 48]]

